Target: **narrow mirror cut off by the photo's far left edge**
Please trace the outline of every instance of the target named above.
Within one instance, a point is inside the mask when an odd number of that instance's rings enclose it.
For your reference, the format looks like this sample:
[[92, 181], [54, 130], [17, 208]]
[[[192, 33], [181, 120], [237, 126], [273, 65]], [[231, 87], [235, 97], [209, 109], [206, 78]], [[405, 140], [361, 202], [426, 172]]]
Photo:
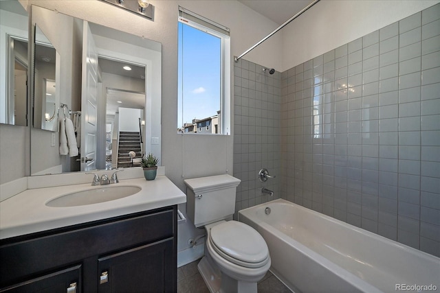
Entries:
[[0, 1], [0, 123], [28, 125], [28, 12]]

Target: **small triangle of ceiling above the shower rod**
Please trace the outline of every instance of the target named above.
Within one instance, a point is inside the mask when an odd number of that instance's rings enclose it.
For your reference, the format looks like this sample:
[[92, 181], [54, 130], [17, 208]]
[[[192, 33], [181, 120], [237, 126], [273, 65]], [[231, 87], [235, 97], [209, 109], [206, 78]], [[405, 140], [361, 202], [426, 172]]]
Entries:
[[271, 21], [282, 25], [292, 16], [305, 8], [311, 0], [239, 0]]

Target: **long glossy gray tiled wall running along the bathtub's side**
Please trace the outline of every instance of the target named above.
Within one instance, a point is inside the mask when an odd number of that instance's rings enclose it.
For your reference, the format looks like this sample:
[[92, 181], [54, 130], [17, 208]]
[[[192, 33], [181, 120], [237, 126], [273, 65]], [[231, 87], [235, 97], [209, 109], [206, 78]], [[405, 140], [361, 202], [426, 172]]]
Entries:
[[440, 256], [440, 4], [283, 72], [281, 96], [282, 197]]

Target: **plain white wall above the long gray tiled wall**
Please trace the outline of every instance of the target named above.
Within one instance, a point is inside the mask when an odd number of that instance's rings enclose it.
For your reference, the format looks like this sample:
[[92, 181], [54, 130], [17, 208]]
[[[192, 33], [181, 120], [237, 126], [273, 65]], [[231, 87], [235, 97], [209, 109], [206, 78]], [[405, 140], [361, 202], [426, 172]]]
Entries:
[[281, 30], [283, 65], [279, 71], [320, 56], [435, 3], [439, 1], [322, 0]]

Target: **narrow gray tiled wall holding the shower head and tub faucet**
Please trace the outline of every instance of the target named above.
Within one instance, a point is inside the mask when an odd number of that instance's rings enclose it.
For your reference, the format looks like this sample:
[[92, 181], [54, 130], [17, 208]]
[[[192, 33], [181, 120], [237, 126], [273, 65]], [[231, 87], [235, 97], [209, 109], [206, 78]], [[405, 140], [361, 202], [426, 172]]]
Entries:
[[[262, 168], [277, 177], [261, 183]], [[234, 177], [241, 179], [235, 211], [281, 198], [281, 73], [243, 59], [234, 62]]]

